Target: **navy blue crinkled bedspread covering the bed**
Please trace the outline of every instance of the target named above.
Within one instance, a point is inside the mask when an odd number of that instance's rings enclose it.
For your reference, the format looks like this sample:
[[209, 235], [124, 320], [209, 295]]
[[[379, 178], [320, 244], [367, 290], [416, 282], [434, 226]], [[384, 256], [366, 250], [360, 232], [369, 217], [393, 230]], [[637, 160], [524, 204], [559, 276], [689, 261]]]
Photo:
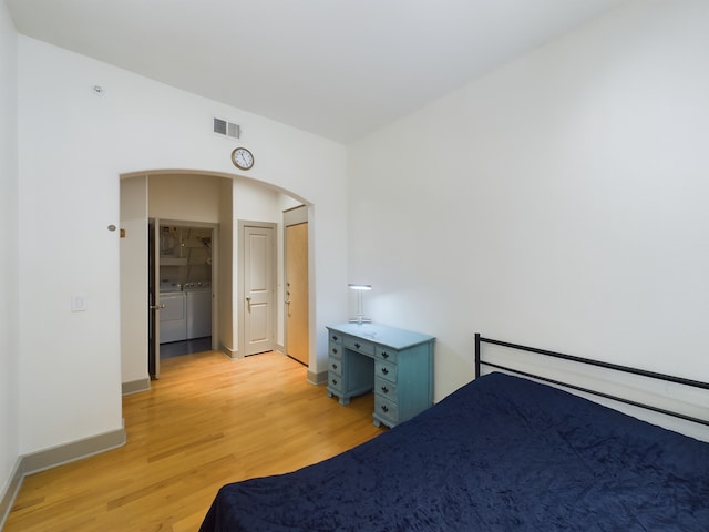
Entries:
[[227, 484], [201, 532], [709, 531], [709, 443], [503, 374], [301, 470]]

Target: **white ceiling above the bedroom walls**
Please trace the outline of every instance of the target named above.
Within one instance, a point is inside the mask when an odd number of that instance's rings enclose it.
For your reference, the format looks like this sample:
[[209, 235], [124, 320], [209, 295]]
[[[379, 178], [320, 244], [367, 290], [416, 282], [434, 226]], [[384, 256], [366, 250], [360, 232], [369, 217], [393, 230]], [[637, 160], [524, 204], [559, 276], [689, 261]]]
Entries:
[[348, 143], [624, 0], [6, 0], [20, 33]]

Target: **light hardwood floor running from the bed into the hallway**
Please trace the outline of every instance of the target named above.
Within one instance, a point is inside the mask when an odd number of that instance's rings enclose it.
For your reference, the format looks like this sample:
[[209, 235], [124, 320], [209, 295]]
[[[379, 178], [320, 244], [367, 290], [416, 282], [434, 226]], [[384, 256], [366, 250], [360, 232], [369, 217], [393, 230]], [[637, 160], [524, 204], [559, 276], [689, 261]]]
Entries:
[[371, 395], [342, 407], [276, 352], [166, 359], [152, 386], [123, 398], [124, 447], [27, 477], [4, 532], [194, 532], [223, 484], [292, 471], [386, 430], [372, 424]]

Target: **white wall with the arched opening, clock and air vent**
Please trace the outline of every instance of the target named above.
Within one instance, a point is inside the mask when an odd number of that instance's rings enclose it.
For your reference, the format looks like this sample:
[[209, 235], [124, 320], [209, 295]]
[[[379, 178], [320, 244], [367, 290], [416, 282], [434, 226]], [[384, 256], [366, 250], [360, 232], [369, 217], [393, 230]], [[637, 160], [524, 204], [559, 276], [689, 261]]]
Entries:
[[[325, 369], [325, 325], [347, 301], [343, 146], [24, 37], [19, 65], [21, 453], [121, 427], [120, 238], [106, 228], [119, 225], [120, 175], [234, 174], [234, 142], [212, 132], [214, 116], [243, 125], [249, 177], [318, 207]], [[70, 310], [78, 293], [86, 311]]]

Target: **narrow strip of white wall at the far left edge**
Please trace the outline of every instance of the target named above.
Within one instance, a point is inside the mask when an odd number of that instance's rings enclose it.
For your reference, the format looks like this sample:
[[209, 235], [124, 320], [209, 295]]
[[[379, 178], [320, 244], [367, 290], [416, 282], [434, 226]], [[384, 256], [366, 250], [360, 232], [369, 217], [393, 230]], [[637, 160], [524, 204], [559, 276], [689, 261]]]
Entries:
[[[0, 2], [0, 497], [19, 454], [18, 34]], [[0, 520], [2, 515], [0, 515]]]

